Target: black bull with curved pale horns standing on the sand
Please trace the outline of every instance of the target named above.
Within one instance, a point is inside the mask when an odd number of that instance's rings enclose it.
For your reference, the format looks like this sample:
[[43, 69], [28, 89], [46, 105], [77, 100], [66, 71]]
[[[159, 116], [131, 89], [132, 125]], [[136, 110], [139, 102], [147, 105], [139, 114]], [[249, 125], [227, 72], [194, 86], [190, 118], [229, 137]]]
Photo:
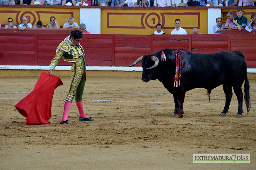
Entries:
[[[166, 55], [166, 61], [161, 61], [162, 51]], [[185, 93], [195, 88], [205, 88], [210, 95], [211, 90], [222, 84], [226, 96], [225, 107], [220, 116], [228, 113], [232, 98], [232, 87], [238, 100], [238, 112], [236, 117], [242, 117], [243, 92], [247, 107], [250, 112], [250, 85], [247, 78], [247, 65], [243, 53], [239, 51], [226, 51], [213, 54], [199, 54], [186, 50], [180, 50], [180, 86], [174, 87], [176, 70], [176, 49], [165, 49], [152, 55], [144, 55], [137, 59], [131, 66], [142, 61], [142, 81], [158, 79], [164, 87], [173, 94], [175, 109], [172, 117], [182, 118]], [[209, 97], [210, 99], [210, 97]]]

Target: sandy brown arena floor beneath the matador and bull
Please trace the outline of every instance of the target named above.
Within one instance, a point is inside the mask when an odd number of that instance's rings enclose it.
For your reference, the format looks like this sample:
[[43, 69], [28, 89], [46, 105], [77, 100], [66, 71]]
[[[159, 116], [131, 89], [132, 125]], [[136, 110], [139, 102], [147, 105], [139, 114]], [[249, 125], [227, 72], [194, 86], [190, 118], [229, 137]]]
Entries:
[[[83, 103], [92, 122], [79, 122], [75, 102], [59, 124], [70, 78], [55, 90], [51, 124], [26, 125], [14, 105], [39, 77], [0, 78], [0, 169], [256, 169], [256, 81], [250, 80], [251, 114], [219, 117], [222, 87], [188, 91], [183, 118], [173, 118], [173, 96], [158, 80], [87, 77]], [[243, 102], [245, 106], [245, 103]], [[193, 164], [193, 153], [250, 153], [250, 163]]]

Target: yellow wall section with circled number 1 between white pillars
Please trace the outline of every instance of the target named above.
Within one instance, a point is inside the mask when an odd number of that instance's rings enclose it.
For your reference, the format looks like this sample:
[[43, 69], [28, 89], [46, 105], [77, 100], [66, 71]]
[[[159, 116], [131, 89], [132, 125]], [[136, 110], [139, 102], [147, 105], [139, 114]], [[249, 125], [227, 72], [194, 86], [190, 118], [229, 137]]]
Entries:
[[102, 9], [101, 34], [153, 34], [156, 24], [170, 34], [175, 28], [175, 19], [181, 20], [181, 27], [192, 34], [197, 28], [200, 33], [208, 33], [208, 8], [202, 9]]

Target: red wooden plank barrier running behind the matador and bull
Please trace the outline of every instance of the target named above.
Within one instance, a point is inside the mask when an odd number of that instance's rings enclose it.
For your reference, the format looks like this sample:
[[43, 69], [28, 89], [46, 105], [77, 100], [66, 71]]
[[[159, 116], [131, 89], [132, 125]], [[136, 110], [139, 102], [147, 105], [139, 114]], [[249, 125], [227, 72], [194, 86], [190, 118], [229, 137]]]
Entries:
[[[69, 33], [0, 33], [0, 65], [49, 65]], [[137, 58], [165, 48], [209, 54], [239, 50], [248, 68], [256, 68], [256, 35], [110, 35], [85, 34], [81, 46], [88, 66], [129, 66]], [[72, 63], [60, 60], [59, 65]], [[136, 66], [141, 66], [137, 64]]]

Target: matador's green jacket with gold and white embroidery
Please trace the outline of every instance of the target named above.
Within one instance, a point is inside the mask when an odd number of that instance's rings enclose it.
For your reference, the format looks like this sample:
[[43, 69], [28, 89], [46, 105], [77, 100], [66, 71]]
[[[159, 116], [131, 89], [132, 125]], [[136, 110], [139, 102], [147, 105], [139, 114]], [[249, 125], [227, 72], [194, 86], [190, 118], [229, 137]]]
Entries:
[[72, 43], [70, 43], [65, 38], [64, 41], [60, 43], [58, 48], [56, 49], [56, 55], [52, 59], [52, 62], [50, 63], [50, 69], [55, 69], [56, 65], [59, 63], [61, 57], [64, 61], [68, 62], [77, 62], [81, 60], [81, 57], [84, 57], [84, 52], [82, 46], [79, 44], [79, 47], [74, 46]]

